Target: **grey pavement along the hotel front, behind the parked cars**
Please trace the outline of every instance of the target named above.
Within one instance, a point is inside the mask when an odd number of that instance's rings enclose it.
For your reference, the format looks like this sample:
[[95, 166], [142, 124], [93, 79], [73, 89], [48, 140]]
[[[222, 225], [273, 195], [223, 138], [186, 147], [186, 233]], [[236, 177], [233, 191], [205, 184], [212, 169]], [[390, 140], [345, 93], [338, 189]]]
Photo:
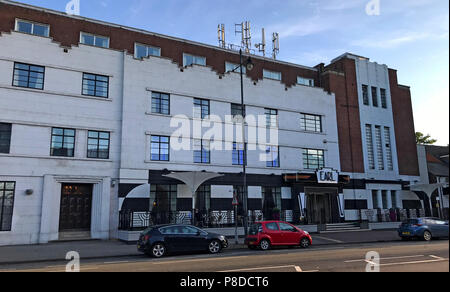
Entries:
[[[399, 242], [396, 231], [354, 231], [327, 234], [312, 234], [313, 246], [352, 245], [363, 243]], [[234, 238], [228, 238], [230, 247], [227, 250], [247, 249], [244, 239], [239, 238], [236, 245]], [[0, 267], [2, 265], [63, 261], [70, 251], [79, 253], [80, 258], [102, 259], [141, 256], [134, 244], [120, 241], [79, 241], [54, 242], [44, 245], [5, 246], [0, 247]]]

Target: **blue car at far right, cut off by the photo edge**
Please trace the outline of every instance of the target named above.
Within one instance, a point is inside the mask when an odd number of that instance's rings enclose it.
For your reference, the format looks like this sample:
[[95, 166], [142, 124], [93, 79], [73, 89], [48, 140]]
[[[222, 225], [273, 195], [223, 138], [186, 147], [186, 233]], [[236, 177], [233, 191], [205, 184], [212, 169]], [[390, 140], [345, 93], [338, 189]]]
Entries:
[[398, 235], [404, 239], [423, 239], [430, 241], [435, 238], [448, 238], [448, 221], [436, 218], [408, 219], [398, 229]]

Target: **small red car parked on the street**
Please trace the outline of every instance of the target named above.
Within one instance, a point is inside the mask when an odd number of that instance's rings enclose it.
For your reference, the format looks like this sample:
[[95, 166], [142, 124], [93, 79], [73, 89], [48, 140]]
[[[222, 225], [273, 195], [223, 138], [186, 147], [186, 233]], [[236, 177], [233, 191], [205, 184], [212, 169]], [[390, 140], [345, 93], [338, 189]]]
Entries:
[[250, 226], [245, 244], [250, 249], [268, 250], [272, 246], [300, 246], [307, 248], [312, 244], [308, 232], [294, 225], [280, 221], [264, 221]]

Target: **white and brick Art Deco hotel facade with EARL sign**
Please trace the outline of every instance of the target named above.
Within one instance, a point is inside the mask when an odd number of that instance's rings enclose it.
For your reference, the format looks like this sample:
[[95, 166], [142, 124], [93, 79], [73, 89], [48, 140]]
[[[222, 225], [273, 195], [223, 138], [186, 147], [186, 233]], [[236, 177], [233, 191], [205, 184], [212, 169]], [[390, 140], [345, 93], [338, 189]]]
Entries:
[[[251, 220], [426, 211], [409, 191], [417, 147], [395, 70], [352, 54], [316, 67], [250, 57], [242, 108], [238, 52], [0, 1], [0, 245], [232, 225], [244, 163]], [[217, 176], [193, 196], [173, 173]]]

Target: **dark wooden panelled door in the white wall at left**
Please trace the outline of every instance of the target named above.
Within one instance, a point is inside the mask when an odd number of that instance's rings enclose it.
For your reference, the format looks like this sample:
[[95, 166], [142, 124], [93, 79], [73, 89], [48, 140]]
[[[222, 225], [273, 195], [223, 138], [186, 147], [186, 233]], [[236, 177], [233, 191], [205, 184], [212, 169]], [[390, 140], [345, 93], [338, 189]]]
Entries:
[[59, 217], [60, 231], [90, 231], [92, 185], [63, 184]]

